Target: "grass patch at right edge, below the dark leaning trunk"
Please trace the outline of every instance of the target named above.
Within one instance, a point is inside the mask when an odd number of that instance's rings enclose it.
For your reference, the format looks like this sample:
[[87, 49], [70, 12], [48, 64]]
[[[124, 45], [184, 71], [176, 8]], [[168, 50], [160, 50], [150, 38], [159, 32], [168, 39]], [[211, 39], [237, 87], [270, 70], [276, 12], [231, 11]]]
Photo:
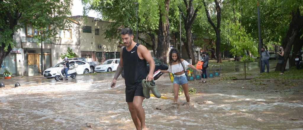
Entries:
[[277, 80], [300, 80], [303, 79], [303, 69], [296, 69], [295, 67], [285, 71], [283, 75], [280, 72], [274, 71], [269, 73], [261, 73], [255, 79], [277, 79]]

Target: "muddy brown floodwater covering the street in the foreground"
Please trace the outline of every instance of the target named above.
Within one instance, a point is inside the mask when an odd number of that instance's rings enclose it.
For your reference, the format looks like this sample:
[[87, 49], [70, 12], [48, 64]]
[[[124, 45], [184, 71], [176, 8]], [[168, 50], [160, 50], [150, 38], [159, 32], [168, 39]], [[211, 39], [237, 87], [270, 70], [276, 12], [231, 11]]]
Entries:
[[[124, 80], [112, 89], [113, 76], [50, 79], [47, 84], [0, 89], [0, 129], [135, 129], [125, 102]], [[185, 97], [179, 100], [185, 102]], [[303, 129], [302, 96], [199, 93], [191, 95], [190, 104], [171, 103], [154, 97], [144, 100], [148, 128]]]

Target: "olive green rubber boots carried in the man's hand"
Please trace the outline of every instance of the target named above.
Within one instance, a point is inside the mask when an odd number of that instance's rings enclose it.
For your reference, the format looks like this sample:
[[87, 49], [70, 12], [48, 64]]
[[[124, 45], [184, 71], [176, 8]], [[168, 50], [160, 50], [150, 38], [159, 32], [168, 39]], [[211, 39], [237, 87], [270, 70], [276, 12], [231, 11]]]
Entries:
[[142, 87], [143, 87], [143, 95], [146, 99], [149, 99], [150, 96], [150, 90], [151, 93], [157, 97], [157, 98], [161, 98], [161, 94], [160, 92], [157, 90], [157, 86], [155, 84], [154, 80], [151, 81], [145, 81], [145, 79], [142, 80]]

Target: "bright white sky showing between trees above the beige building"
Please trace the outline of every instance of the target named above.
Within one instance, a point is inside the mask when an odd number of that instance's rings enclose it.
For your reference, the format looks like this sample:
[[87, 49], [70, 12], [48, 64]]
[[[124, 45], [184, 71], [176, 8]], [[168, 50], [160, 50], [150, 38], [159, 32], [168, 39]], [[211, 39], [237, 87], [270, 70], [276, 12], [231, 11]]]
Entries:
[[[73, 0], [72, 16], [76, 16], [76, 15], [83, 15], [83, 5], [81, 3], [81, 0]], [[95, 11], [89, 11], [88, 16], [94, 18], [100, 18], [98, 17], [98, 13], [96, 13]]]

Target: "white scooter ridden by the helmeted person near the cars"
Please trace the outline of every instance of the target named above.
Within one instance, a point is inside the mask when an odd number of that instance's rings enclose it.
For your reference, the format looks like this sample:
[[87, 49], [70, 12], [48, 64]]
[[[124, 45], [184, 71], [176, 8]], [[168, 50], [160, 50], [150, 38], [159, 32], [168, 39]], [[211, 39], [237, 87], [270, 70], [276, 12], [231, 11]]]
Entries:
[[[58, 73], [60, 75], [55, 76], [55, 80], [63, 80], [63, 78], [65, 77], [65, 72], [64, 72], [64, 65], [59, 65], [59, 67], [61, 67], [61, 69], [58, 69]], [[73, 64], [72, 66], [69, 67], [69, 70], [67, 71], [67, 73], [69, 74], [67, 77], [71, 77], [72, 79], [76, 78], [77, 71], [76, 68], [78, 67], [78, 64]]]

